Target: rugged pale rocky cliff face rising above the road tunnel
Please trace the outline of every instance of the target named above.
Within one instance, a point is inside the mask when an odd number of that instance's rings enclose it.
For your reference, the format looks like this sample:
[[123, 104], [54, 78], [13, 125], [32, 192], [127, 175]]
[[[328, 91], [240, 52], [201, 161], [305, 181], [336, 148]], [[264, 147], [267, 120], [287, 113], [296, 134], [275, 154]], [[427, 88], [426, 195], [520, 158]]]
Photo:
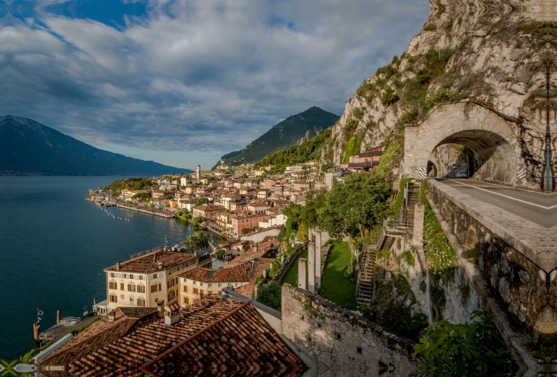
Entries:
[[[379, 68], [347, 101], [322, 161], [342, 163], [357, 152], [354, 145], [360, 151], [384, 144], [400, 149], [405, 125], [419, 122], [437, 104], [469, 98], [516, 120], [517, 158], [524, 159], [528, 180], [539, 183], [547, 141], [552, 150], [557, 146], [551, 136], [557, 106], [550, 99], [547, 111], [544, 91], [545, 64], [551, 70], [557, 65], [557, 40], [521, 35], [557, 37], [557, 23], [551, 22], [557, 20], [557, 3], [430, 0], [430, 7], [429, 19], [406, 53]], [[553, 96], [557, 90], [550, 79]], [[551, 159], [557, 162], [557, 154]]]

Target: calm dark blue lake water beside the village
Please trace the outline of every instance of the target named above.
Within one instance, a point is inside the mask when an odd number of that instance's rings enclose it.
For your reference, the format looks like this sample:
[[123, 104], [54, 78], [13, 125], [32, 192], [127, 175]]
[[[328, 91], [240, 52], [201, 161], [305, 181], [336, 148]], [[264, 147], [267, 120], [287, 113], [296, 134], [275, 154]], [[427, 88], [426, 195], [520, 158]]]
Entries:
[[[82, 316], [104, 300], [103, 268], [131, 254], [185, 239], [180, 220], [110, 207], [116, 218], [84, 200], [84, 191], [119, 177], [0, 177], [0, 359], [33, 346], [37, 307], [41, 329], [63, 316]], [[130, 221], [118, 220], [127, 218]]]

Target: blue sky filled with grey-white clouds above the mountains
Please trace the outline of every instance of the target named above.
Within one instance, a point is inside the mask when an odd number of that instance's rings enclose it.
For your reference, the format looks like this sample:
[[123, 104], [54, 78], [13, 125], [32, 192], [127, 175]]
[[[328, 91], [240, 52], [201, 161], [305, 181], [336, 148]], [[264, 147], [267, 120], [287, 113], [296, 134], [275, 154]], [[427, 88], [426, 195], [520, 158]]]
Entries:
[[0, 116], [210, 169], [311, 106], [342, 114], [429, 11], [427, 0], [0, 0]]

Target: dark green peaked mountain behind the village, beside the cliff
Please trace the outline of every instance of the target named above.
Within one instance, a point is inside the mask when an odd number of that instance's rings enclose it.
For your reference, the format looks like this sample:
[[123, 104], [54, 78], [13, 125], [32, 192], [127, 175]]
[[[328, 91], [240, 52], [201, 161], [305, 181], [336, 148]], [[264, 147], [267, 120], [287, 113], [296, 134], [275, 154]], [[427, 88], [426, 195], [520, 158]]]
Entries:
[[225, 154], [222, 160], [226, 165], [255, 163], [279, 149], [291, 147], [317, 135], [320, 129], [327, 129], [340, 117], [316, 106], [303, 113], [292, 115], [251, 142], [240, 152]]

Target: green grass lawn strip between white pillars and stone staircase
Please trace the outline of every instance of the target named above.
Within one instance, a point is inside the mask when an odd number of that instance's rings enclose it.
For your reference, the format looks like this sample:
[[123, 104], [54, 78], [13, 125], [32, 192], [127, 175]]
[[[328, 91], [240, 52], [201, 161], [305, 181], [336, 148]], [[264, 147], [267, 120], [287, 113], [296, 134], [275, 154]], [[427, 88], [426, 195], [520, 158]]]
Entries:
[[[331, 246], [319, 295], [345, 309], [356, 310], [356, 284], [344, 277], [344, 272], [350, 268], [351, 257], [347, 242], [335, 243]], [[292, 268], [290, 268], [290, 271], [292, 271]], [[290, 274], [290, 271], [288, 271], [288, 274]], [[286, 276], [288, 277], [288, 275]], [[296, 271], [296, 278], [297, 276]]]

